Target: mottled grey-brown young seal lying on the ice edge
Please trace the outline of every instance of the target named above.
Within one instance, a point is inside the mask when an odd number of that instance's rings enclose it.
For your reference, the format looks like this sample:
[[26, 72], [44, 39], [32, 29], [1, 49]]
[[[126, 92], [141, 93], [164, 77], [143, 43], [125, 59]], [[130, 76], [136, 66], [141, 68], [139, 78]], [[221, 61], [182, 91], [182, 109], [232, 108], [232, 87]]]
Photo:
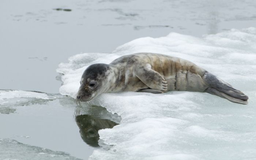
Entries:
[[206, 92], [248, 104], [248, 96], [191, 61], [157, 53], [135, 53], [110, 64], [90, 65], [83, 72], [77, 99], [90, 101], [101, 93], [124, 91]]

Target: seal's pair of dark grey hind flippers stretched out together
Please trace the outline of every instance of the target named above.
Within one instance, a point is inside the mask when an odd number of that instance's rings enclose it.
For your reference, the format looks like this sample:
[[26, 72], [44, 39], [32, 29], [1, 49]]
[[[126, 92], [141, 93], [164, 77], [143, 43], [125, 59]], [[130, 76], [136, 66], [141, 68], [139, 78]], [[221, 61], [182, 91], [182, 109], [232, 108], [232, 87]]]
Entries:
[[234, 103], [248, 104], [248, 96], [211, 73], [206, 72], [203, 79], [209, 85], [205, 92], [225, 98]]

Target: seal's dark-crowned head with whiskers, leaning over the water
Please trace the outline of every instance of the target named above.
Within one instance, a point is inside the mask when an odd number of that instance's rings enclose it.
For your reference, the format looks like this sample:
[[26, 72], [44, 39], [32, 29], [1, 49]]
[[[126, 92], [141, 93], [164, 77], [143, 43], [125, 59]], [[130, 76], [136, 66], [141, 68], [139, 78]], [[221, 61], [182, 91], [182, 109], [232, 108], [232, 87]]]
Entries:
[[113, 79], [112, 67], [109, 64], [93, 64], [83, 72], [80, 88], [76, 94], [79, 101], [89, 101], [109, 89]]

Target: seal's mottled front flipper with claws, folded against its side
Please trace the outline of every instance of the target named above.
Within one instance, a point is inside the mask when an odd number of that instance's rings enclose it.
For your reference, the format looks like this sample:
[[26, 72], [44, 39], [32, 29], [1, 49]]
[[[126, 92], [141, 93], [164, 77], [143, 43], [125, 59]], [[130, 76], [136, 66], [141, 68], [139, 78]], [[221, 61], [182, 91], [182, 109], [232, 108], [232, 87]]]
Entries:
[[142, 67], [137, 67], [135, 69], [135, 75], [149, 88], [162, 92], [167, 92], [168, 87], [166, 80], [163, 78], [163, 76], [160, 75], [160, 73], [151, 69], [150, 64]]

